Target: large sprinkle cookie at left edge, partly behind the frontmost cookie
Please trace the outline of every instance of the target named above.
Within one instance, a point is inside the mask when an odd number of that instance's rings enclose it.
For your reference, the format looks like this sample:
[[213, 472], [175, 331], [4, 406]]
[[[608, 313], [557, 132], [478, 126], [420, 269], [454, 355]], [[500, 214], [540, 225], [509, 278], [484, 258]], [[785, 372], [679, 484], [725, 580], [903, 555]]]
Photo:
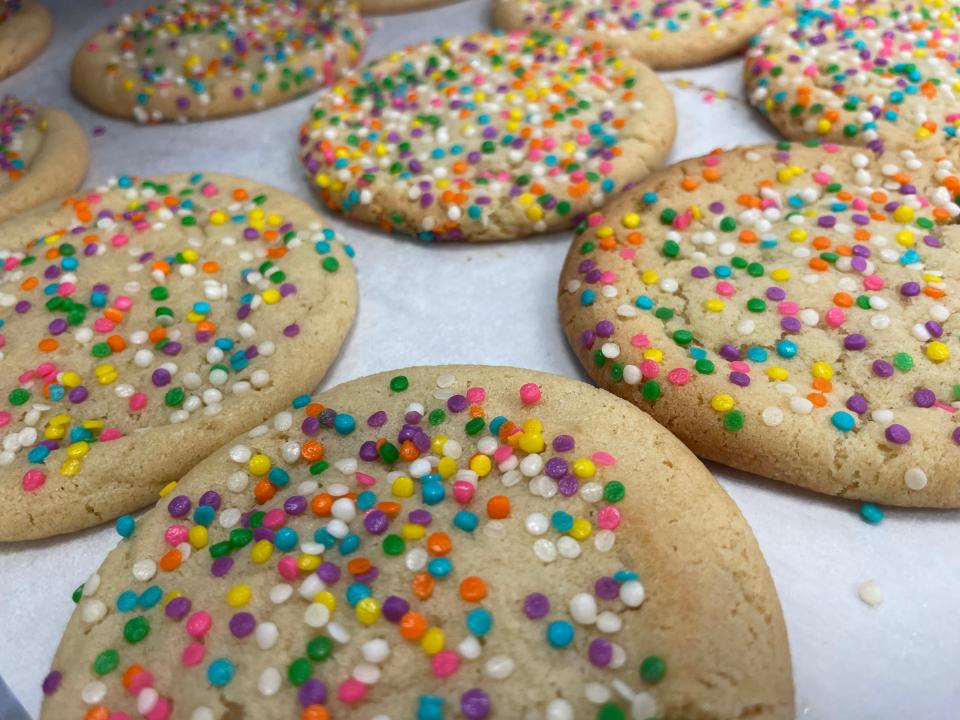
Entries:
[[0, 540], [149, 505], [315, 388], [355, 313], [350, 247], [243, 178], [122, 176], [0, 235]]

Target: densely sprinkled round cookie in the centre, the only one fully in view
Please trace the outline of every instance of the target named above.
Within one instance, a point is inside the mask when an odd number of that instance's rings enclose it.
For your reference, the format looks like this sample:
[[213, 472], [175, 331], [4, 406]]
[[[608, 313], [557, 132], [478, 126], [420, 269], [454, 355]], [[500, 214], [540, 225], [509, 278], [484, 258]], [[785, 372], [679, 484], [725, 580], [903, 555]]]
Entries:
[[301, 160], [333, 210], [424, 240], [572, 227], [669, 153], [673, 97], [646, 66], [542, 33], [439, 39], [323, 93]]

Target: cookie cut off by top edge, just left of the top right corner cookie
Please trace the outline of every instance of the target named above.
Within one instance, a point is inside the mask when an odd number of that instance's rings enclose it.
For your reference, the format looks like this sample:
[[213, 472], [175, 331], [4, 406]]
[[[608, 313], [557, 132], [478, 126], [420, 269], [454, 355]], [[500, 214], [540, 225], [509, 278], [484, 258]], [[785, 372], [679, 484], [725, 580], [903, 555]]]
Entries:
[[497, 27], [600, 40], [658, 69], [737, 53], [783, 12], [780, 0], [493, 0]]

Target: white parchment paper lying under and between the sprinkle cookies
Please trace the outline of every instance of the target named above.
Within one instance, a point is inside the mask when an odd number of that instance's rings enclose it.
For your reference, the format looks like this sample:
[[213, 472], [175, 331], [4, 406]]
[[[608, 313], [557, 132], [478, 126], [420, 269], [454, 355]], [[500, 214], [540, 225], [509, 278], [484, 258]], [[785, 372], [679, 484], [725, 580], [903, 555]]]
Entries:
[[[296, 156], [309, 99], [188, 126], [139, 127], [86, 109], [69, 63], [89, 33], [142, 0], [45, 0], [51, 46], [0, 92], [68, 109], [91, 136], [88, 183], [123, 173], [218, 170], [309, 197]], [[368, 58], [441, 33], [488, 28], [485, 0], [374, 19]], [[775, 135], [738, 96], [738, 59], [663, 73], [679, 114], [671, 161]], [[583, 377], [560, 330], [557, 274], [569, 235], [429, 246], [331, 219], [357, 249], [356, 324], [324, 386], [430, 363], [490, 363]], [[460, 313], [455, 308], [469, 309]], [[960, 515], [889, 510], [871, 527], [840, 502], [712, 468], [740, 505], [773, 571], [790, 633], [797, 717], [960, 717]], [[70, 593], [116, 544], [112, 526], [0, 545], [0, 675], [36, 717], [40, 682], [73, 609]], [[857, 586], [875, 580], [872, 609]], [[2, 712], [0, 712], [0, 720]]]

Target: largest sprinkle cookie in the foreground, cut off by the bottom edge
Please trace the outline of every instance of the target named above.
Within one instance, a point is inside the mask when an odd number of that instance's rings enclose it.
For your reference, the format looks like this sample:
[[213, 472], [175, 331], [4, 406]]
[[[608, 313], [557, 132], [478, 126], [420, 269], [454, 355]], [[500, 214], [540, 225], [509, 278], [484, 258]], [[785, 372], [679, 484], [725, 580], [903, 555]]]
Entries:
[[43, 720], [793, 718], [736, 506], [567, 378], [421, 367], [298, 397], [118, 530]]

